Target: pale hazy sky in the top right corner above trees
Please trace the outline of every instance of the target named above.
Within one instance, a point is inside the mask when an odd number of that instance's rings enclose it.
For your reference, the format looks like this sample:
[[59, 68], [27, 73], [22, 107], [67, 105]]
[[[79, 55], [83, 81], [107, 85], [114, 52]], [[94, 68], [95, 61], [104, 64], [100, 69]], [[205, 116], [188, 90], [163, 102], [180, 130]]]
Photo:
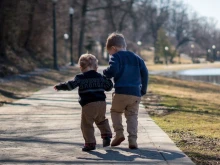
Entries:
[[220, 28], [220, 0], [183, 0], [201, 16], [213, 17]]

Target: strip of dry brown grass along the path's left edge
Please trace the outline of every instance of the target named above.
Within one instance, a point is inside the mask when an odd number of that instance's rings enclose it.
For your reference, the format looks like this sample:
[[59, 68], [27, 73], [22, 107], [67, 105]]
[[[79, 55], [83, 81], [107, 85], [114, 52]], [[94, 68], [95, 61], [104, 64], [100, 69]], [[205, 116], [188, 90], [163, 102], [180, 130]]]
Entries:
[[8, 82], [0, 84], [0, 106], [5, 103], [13, 102], [14, 100], [30, 96], [49, 85], [55, 85], [58, 82], [69, 79], [72, 75], [79, 72], [76, 67], [69, 67], [65, 70], [56, 71], [48, 70], [37, 76], [21, 79], [12, 79]]

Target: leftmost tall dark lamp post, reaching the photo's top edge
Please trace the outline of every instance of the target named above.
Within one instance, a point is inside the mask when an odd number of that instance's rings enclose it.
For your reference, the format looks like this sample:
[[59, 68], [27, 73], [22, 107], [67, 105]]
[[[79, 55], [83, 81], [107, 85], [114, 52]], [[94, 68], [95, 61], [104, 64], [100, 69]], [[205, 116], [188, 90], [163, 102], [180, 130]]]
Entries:
[[57, 0], [52, 0], [53, 2], [53, 67], [54, 69], [58, 70], [57, 65], [57, 29], [56, 29], [56, 3]]

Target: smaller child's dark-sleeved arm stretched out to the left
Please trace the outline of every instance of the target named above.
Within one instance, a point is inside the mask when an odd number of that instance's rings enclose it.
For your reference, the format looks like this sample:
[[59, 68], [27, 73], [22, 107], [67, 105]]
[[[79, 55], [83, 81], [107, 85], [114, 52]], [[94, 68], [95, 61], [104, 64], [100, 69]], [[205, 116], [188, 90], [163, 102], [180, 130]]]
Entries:
[[73, 80], [60, 83], [54, 86], [55, 90], [73, 90], [79, 85], [79, 78], [76, 76]]

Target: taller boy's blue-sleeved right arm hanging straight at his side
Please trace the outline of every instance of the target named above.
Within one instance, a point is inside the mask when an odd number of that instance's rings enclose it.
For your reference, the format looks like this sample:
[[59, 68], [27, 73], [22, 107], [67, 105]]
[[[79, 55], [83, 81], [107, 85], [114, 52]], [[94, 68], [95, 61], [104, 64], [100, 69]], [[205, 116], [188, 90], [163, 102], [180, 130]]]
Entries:
[[148, 69], [143, 60], [141, 60], [140, 72], [141, 72], [141, 84], [142, 84], [141, 95], [143, 96], [147, 92], [147, 85], [148, 85]]

